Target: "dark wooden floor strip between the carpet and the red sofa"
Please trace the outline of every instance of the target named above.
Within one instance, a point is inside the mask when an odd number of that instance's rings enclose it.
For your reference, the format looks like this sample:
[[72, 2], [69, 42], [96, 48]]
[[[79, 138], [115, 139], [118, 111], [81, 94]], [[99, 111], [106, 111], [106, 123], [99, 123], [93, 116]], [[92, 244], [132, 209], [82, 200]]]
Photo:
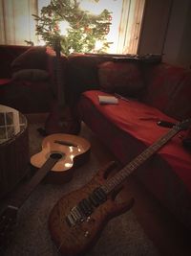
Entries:
[[[89, 128], [85, 127], [86, 134], [92, 144], [92, 151], [96, 154], [100, 164], [115, 160], [114, 156], [104, 147]], [[153, 241], [162, 256], [190, 256], [190, 234], [174, 219], [174, 217], [159, 204], [135, 176], [130, 176], [122, 190], [122, 198], [133, 197], [135, 204], [133, 211], [138, 222], [147, 236]]]

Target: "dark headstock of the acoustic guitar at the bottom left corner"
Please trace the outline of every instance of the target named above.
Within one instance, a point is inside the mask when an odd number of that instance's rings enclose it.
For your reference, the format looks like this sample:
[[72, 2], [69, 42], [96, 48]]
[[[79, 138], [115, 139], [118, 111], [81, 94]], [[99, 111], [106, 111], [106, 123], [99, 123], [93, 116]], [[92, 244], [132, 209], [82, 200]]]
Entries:
[[6, 248], [11, 243], [17, 211], [17, 208], [8, 206], [0, 215], [0, 249]]

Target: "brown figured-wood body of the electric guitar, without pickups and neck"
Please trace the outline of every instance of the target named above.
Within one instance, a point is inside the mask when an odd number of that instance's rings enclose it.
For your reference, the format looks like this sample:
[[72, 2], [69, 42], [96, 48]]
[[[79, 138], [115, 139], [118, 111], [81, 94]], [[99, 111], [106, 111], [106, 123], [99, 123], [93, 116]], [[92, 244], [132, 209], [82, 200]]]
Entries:
[[[113, 163], [112, 163], [113, 165]], [[61, 198], [53, 207], [49, 218], [49, 228], [57, 250], [64, 256], [84, 255], [96, 244], [101, 231], [107, 222], [115, 216], [126, 212], [133, 206], [133, 200], [117, 203], [112, 197], [99, 205], [90, 218], [74, 226], [66, 221], [66, 216], [74, 205], [87, 198], [97, 186], [105, 182], [104, 173], [111, 168], [111, 163], [101, 169], [98, 174], [83, 188]]]

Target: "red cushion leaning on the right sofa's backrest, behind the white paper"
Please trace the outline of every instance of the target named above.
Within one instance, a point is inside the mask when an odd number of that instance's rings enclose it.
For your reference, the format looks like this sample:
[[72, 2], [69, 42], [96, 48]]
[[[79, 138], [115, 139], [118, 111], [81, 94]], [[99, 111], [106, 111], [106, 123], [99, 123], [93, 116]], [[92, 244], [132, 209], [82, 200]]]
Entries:
[[110, 93], [138, 97], [144, 87], [138, 63], [107, 61], [98, 66], [101, 88]]

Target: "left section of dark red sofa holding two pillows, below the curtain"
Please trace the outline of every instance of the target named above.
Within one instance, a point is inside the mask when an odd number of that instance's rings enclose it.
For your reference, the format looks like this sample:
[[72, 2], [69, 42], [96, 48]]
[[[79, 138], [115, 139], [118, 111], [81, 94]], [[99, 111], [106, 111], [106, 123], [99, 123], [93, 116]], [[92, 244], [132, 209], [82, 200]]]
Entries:
[[[62, 57], [63, 70], [66, 59]], [[42, 46], [0, 45], [0, 104], [49, 112], [56, 95], [56, 58]]]

